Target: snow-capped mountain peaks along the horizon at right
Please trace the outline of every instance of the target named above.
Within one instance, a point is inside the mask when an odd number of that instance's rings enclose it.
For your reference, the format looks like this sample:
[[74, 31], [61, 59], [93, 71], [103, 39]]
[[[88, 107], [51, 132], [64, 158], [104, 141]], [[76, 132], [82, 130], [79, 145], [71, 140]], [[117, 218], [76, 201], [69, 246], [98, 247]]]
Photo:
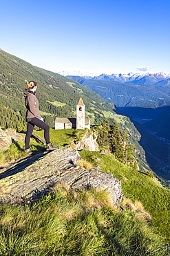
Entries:
[[[105, 80], [115, 82], [131, 82], [134, 84], [156, 84], [160, 81], [168, 80], [169, 74], [160, 73], [128, 73], [128, 74], [102, 74], [99, 76], [89, 77], [89, 80]], [[86, 79], [88, 79], [86, 77]]]

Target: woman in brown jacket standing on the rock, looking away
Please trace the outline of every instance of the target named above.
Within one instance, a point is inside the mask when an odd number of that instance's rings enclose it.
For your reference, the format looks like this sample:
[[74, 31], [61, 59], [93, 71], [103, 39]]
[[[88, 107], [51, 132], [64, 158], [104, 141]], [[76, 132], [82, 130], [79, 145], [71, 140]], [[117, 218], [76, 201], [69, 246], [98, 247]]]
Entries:
[[36, 82], [30, 81], [26, 83], [28, 89], [25, 89], [25, 106], [27, 108], [26, 112], [26, 122], [27, 125], [27, 134], [25, 136], [25, 153], [32, 154], [30, 149], [30, 137], [32, 135], [32, 131], [34, 129], [34, 125], [44, 130], [44, 138], [47, 144], [47, 151], [51, 151], [54, 149], [59, 149], [59, 147], [54, 147], [52, 143], [50, 143], [50, 127], [43, 122], [43, 118], [41, 118], [39, 114], [39, 101], [36, 98]]

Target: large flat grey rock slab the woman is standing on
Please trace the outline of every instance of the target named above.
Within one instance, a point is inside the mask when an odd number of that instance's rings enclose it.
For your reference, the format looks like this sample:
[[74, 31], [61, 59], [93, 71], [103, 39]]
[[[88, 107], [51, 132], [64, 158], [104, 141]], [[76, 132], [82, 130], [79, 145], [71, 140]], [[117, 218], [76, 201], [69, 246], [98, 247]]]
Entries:
[[[39, 158], [39, 159], [37, 159]], [[98, 188], [107, 190], [114, 205], [123, 198], [121, 183], [112, 174], [85, 170], [76, 164], [81, 160], [71, 148], [56, 149], [42, 156], [30, 156], [0, 174], [0, 201], [26, 203], [51, 191], [56, 184], [70, 189]]]

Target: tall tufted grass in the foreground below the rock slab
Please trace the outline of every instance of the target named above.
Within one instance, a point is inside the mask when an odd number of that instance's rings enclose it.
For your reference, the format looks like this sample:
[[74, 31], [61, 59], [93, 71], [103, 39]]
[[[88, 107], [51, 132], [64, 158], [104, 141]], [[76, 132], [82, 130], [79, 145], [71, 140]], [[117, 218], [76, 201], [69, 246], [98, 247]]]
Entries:
[[0, 214], [0, 255], [170, 255], [145, 219], [115, 209], [106, 192], [58, 186], [34, 205], [1, 205]]

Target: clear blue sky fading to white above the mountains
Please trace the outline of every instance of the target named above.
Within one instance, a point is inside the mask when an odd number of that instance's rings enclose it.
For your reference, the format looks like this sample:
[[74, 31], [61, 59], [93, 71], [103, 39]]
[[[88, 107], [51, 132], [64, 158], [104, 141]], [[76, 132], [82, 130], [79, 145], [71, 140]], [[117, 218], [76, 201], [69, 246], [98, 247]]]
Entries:
[[0, 48], [49, 70], [170, 73], [169, 0], [0, 0]]

